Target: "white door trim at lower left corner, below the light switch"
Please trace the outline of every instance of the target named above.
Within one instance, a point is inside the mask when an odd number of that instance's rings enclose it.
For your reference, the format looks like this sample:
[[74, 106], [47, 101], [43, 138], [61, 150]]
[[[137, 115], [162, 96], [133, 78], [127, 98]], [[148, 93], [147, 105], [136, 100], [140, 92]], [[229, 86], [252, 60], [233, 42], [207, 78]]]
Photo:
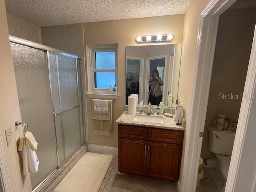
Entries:
[[9, 174], [8, 165], [6, 162], [6, 155], [4, 152], [4, 143], [3, 143], [1, 132], [0, 132], [0, 174], [2, 178], [2, 179], [0, 178], [0, 182], [2, 180], [4, 192], [12, 192], [10, 174]]

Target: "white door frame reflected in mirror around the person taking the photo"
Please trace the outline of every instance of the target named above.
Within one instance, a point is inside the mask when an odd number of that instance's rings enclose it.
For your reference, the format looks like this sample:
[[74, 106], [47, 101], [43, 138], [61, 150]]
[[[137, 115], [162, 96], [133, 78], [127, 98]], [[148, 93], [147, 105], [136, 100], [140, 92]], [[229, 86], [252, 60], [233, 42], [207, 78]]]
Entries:
[[[155, 59], [165, 59], [164, 60], [164, 85], [163, 85], [163, 98], [162, 100], [164, 100], [164, 98], [166, 98], [166, 96], [164, 95], [165, 92], [164, 90], [166, 89], [166, 67], [167, 67], [167, 55], [159, 55], [159, 56], [154, 56], [154, 57], [147, 57], [146, 58], [146, 76], [145, 76], [145, 95], [144, 95], [144, 104], [148, 104], [148, 91], [149, 91], [149, 86], [146, 84], [146, 82], [149, 82], [149, 76], [150, 76], [150, 60], [155, 60]], [[171, 83], [171, 82], [170, 82]]]

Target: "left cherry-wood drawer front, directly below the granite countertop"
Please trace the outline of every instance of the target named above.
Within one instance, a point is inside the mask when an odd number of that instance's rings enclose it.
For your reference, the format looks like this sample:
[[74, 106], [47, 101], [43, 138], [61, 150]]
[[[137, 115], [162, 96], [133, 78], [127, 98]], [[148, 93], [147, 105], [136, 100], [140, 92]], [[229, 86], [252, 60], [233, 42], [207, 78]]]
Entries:
[[118, 125], [118, 137], [147, 140], [147, 128], [140, 126]]

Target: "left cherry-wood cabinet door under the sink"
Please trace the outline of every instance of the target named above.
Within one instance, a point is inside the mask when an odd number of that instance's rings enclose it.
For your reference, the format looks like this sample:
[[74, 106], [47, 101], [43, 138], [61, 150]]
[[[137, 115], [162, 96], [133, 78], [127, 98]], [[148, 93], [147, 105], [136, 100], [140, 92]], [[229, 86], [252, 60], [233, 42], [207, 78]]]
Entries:
[[118, 138], [118, 171], [145, 175], [146, 141]]

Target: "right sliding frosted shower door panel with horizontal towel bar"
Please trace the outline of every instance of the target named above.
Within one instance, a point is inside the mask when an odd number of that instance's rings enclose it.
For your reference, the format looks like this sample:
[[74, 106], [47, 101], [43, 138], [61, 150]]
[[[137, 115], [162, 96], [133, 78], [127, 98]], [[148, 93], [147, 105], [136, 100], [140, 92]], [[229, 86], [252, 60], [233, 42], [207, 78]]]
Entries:
[[62, 164], [80, 147], [80, 94], [75, 58], [49, 53], [53, 111]]

